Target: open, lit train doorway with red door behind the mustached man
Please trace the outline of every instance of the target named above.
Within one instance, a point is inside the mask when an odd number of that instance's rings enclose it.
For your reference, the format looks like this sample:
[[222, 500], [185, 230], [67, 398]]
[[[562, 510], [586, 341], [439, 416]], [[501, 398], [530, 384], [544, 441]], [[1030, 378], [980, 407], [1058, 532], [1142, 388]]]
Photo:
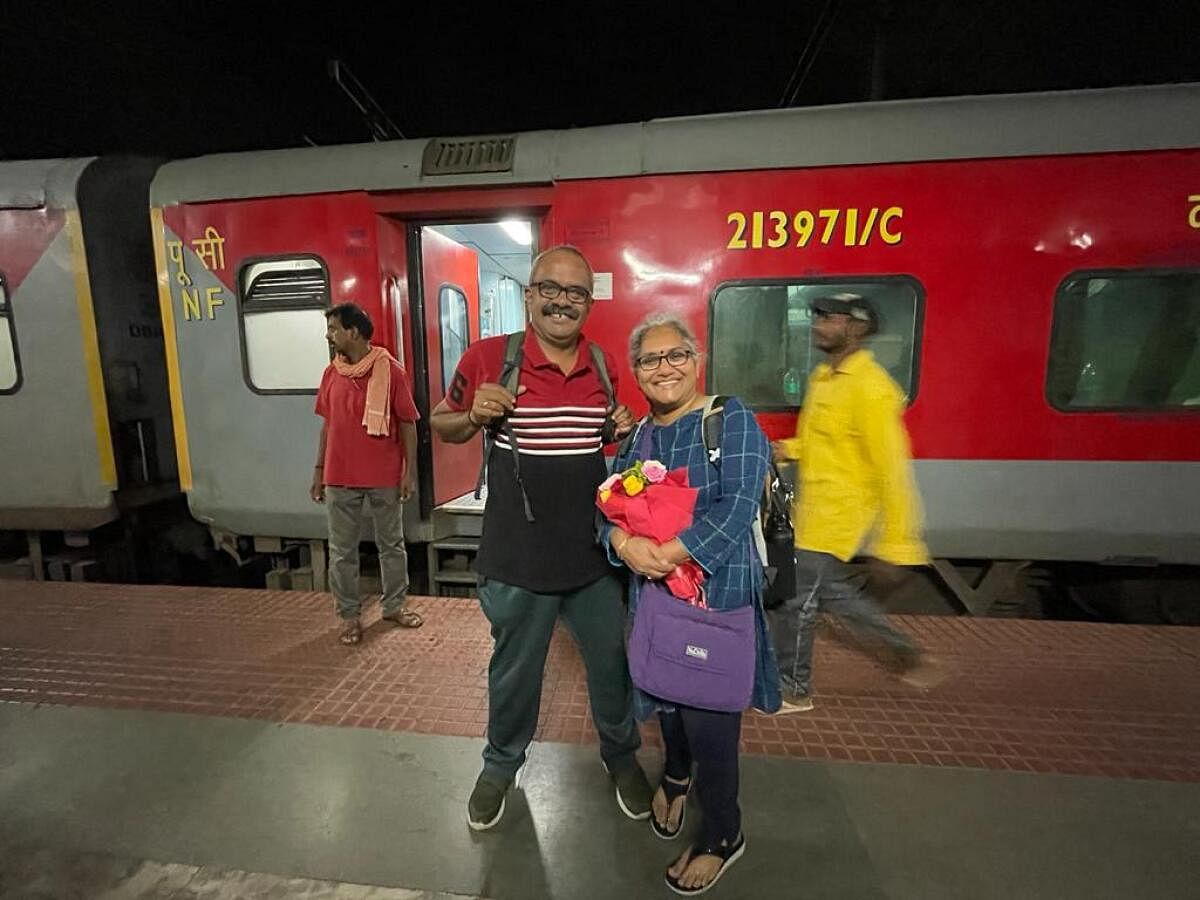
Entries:
[[482, 440], [443, 442], [430, 414], [473, 343], [524, 329], [524, 286], [539, 240], [553, 233], [552, 196], [552, 187], [539, 185], [371, 198], [384, 317], [424, 416], [416, 430], [419, 503], [406, 511], [406, 533], [430, 544], [431, 570], [438, 541], [479, 534], [482, 503], [474, 491]]

